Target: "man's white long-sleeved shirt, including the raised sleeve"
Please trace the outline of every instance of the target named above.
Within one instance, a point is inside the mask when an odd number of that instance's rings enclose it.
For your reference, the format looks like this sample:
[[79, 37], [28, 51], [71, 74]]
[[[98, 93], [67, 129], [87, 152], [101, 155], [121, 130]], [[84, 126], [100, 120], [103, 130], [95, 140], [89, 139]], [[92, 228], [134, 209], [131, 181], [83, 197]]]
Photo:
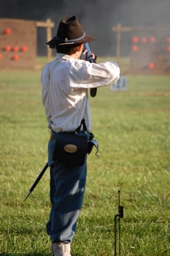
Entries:
[[101, 64], [57, 54], [42, 70], [42, 103], [49, 126], [55, 132], [70, 132], [82, 118], [91, 130], [88, 89], [110, 85], [120, 77], [120, 68], [112, 62]]

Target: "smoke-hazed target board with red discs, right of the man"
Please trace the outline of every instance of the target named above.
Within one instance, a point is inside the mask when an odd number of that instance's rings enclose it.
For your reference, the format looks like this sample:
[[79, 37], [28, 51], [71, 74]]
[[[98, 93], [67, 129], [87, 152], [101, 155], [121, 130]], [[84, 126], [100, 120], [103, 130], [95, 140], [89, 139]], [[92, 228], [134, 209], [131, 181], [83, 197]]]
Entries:
[[170, 74], [170, 29], [138, 29], [131, 37], [131, 71]]

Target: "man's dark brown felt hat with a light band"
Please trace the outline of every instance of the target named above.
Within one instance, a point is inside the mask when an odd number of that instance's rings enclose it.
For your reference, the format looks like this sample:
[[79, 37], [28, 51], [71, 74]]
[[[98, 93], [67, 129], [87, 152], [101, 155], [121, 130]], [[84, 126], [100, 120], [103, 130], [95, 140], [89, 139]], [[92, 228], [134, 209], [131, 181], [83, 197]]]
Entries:
[[63, 18], [58, 26], [58, 31], [55, 37], [47, 42], [50, 48], [55, 48], [55, 45], [73, 45], [84, 42], [93, 42], [95, 37], [85, 34], [84, 29], [76, 16]]

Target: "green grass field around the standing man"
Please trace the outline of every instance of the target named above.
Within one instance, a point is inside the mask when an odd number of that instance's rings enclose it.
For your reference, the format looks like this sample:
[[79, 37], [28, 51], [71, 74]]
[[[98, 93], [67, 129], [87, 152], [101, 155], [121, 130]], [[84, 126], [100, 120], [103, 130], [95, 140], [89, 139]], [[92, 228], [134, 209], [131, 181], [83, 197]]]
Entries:
[[[45, 225], [49, 171], [23, 198], [47, 162], [49, 132], [41, 70], [0, 72], [0, 254], [50, 255]], [[114, 255], [117, 191], [124, 206], [121, 256], [170, 255], [170, 76], [128, 75], [127, 91], [98, 89], [90, 99], [100, 144], [88, 157], [85, 201], [73, 256]]]

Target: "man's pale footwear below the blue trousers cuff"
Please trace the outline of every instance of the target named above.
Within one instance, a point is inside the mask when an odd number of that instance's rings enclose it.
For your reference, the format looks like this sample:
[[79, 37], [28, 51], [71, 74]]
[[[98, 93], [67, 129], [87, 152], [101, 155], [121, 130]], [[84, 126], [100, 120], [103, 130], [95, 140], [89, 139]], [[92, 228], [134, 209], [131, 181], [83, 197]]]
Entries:
[[71, 256], [70, 255], [70, 244], [63, 243], [52, 243], [51, 250], [53, 256]]

